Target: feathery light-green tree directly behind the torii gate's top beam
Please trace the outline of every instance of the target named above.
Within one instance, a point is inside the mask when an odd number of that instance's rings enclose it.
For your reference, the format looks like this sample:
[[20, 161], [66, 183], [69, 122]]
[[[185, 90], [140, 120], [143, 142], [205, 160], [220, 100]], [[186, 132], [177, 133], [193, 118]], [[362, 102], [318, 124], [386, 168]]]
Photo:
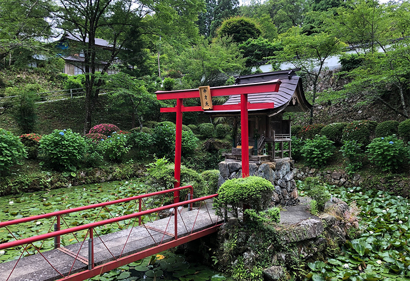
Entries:
[[229, 76], [244, 69], [245, 60], [230, 38], [217, 38], [211, 44], [205, 38], [181, 53], [172, 66], [180, 70], [192, 88], [200, 85], [221, 86]]

